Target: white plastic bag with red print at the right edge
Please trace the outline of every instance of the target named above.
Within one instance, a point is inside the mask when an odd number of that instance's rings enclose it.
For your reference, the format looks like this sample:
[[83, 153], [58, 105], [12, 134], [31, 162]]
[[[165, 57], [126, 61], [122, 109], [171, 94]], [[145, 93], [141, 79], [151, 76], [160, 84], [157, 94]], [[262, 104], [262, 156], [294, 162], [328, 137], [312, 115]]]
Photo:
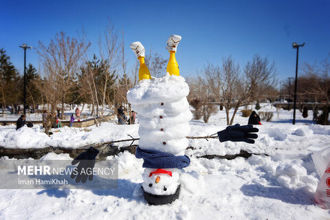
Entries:
[[320, 176], [320, 183], [316, 188], [314, 201], [321, 208], [330, 209], [330, 147], [314, 152], [311, 157]]

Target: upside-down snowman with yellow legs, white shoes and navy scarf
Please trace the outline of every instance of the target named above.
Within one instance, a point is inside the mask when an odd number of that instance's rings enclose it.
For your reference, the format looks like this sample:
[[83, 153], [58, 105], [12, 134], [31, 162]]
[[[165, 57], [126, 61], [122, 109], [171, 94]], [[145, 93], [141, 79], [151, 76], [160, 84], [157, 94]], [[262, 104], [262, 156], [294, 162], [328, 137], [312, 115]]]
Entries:
[[151, 78], [144, 63], [144, 47], [140, 42], [130, 47], [140, 61], [140, 83], [127, 93], [132, 109], [139, 113], [139, 147], [135, 153], [143, 158], [142, 189], [151, 204], [170, 203], [178, 198], [181, 168], [190, 164], [184, 155], [192, 118], [186, 96], [189, 87], [179, 76], [175, 52], [181, 36], [171, 35], [166, 49], [170, 53], [166, 76]]

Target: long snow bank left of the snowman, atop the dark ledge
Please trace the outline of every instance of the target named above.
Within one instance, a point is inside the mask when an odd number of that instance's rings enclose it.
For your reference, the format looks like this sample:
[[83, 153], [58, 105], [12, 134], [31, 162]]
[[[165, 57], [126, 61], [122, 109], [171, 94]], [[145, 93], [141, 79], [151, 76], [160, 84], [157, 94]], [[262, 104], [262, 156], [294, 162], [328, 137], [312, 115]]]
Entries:
[[[119, 126], [103, 122], [99, 127], [89, 127], [88, 129], [91, 129], [91, 131], [64, 126], [53, 131], [54, 133], [50, 137], [41, 131], [41, 126], [34, 126], [33, 128], [23, 126], [17, 131], [14, 126], [3, 127], [5, 129], [0, 129], [0, 146], [5, 148], [44, 148], [46, 146], [79, 148], [99, 142], [129, 139], [128, 135], [138, 137], [137, 129], [139, 125]], [[126, 145], [127, 142], [117, 144], [117, 146]]]

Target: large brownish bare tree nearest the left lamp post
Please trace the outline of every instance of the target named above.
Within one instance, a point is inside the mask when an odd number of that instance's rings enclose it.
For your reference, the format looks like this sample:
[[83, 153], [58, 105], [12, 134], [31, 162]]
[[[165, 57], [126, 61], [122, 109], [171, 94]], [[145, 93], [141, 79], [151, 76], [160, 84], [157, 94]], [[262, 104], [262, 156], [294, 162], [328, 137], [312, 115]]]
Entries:
[[62, 104], [62, 117], [64, 115], [65, 97], [70, 93], [79, 63], [90, 43], [80, 41], [65, 35], [65, 32], [56, 34], [49, 45], [39, 41], [38, 54], [41, 58], [45, 78], [41, 91], [45, 93], [47, 102], [55, 115], [57, 104]]

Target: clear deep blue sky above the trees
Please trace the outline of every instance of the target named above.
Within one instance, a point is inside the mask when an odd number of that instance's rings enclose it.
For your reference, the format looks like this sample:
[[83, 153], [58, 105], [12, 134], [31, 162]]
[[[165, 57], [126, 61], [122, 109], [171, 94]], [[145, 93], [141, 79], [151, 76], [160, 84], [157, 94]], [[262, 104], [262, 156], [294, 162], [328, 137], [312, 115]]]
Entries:
[[[87, 30], [92, 50], [108, 19], [124, 31], [129, 65], [135, 55], [129, 43], [141, 41], [146, 51], [162, 54], [170, 34], [182, 41], [177, 61], [182, 76], [195, 75], [207, 62], [220, 64], [231, 55], [243, 66], [254, 54], [274, 61], [278, 78], [294, 76], [296, 50], [305, 42], [299, 63], [330, 59], [330, 1], [2, 1], [0, 47], [23, 72], [23, 51], [28, 43], [49, 43], [57, 32], [77, 36]], [[27, 62], [39, 67], [36, 50]]]

